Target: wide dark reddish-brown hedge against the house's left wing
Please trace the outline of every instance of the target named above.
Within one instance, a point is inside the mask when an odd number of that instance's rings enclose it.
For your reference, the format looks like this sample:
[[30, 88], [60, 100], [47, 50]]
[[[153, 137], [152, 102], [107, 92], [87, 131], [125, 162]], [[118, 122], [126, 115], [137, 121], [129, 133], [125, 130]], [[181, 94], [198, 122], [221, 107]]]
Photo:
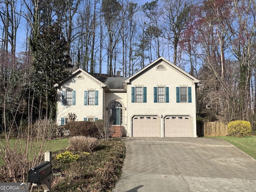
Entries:
[[65, 130], [70, 130], [70, 136], [86, 136], [98, 138], [98, 128], [95, 122], [71, 121], [64, 125]]

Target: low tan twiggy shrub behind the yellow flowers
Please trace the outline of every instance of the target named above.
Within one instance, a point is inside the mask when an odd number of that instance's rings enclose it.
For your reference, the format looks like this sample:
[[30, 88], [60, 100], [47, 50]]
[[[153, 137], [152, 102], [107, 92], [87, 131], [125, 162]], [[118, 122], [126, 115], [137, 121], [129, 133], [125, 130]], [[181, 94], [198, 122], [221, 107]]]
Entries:
[[68, 140], [69, 148], [80, 152], [92, 152], [98, 146], [98, 139], [86, 136], [74, 136]]

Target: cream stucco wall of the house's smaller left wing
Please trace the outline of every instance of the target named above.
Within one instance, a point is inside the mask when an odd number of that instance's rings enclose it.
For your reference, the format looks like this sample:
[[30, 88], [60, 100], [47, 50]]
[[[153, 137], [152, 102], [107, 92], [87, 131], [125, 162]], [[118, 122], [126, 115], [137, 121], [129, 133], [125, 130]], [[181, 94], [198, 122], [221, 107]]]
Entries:
[[[69, 112], [75, 113], [77, 121], [83, 121], [84, 118], [98, 118], [102, 119], [103, 114], [103, 88], [101, 84], [94, 79], [87, 78], [85, 75], [83, 79], [74, 76], [70, 80], [63, 83], [57, 90], [58, 94], [58, 111], [57, 124], [61, 124], [61, 118], [68, 118]], [[62, 105], [62, 90], [76, 91], [75, 105]], [[84, 105], [84, 91], [94, 90], [98, 91], [98, 105]]]

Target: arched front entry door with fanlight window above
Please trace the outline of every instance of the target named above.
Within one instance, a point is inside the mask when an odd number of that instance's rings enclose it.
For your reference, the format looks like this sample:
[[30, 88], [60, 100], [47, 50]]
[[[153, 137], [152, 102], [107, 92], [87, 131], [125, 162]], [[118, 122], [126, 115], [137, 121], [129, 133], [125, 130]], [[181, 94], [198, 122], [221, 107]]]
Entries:
[[110, 105], [110, 118], [113, 125], [122, 124], [123, 106], [120, 102], [114, 101]]

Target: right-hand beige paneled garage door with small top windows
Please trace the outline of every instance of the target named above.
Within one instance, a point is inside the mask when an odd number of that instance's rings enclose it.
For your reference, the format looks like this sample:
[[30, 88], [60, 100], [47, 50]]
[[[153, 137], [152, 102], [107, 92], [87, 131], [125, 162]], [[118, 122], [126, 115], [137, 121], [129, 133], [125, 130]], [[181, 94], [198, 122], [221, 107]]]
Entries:
[[167, 116], [164, 118], [165, 137], [191, 137], [190, 116]]

